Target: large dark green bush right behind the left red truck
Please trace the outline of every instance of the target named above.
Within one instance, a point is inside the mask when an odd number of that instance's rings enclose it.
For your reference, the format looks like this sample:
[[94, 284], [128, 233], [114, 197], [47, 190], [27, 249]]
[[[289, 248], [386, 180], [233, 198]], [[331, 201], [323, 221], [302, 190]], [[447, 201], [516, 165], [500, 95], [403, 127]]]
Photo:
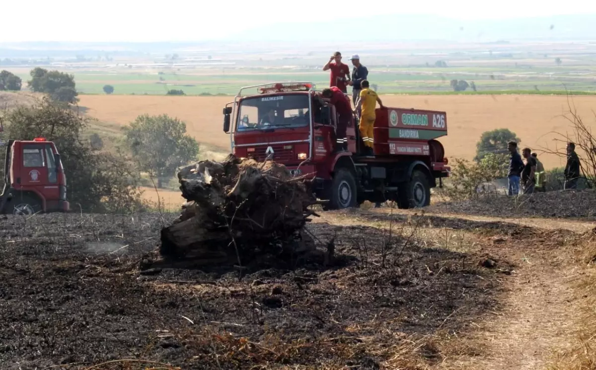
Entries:
[[[45, 97], [33, 106], [20, 106], [5, 115], [7, 137], [53, 141], [61, 155], [71, 205], [89, 212], [136, 211], [141, 206], [138, 177], [123, 155], [100, 153], [81, 139], [89, 118], [67, 104]], [[4, 161], [4, 152], [0, 158]]]

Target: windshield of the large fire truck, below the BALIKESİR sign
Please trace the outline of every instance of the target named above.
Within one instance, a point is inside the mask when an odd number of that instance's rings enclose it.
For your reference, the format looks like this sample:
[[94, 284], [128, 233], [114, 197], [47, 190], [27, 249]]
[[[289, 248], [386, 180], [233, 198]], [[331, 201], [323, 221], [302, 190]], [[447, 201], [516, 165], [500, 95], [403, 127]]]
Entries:
[[305, 94], [269, 95], [246, 98], [238, 108], [236, 130], [253, 131], [271, 128], [309, 126], [309, 96]]

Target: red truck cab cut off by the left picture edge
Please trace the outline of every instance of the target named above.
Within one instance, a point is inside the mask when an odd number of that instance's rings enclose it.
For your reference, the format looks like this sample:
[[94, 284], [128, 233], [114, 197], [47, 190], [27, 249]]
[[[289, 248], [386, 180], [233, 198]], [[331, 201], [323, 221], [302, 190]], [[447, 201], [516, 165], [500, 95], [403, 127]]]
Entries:
[[66, 175], [53, 142], [8, 140], [0, 213], [67, 212]]

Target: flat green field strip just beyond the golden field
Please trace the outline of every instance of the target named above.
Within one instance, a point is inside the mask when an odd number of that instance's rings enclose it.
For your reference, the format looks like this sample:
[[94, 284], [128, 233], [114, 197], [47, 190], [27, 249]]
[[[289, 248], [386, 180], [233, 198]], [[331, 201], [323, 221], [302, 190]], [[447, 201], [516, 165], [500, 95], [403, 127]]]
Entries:
[[[524, 93], [552, 93], [564, 92], [566, 89], [574, 92], [596, 92], [596, 72], [586, 73], [582, 77], [555, 74], [548, 77], [541, 73], [520, 76], [515, 71], [499, 72], [498, 75], [487, 72], [449, 71], [432, 73], [421, 70], [386, 71], [370, 68], [368, 79], [376, 84], [380, 93], [454, 93], [450, 86], [452, 79], [474, 81], [476, 93], [502, 93], [523, 91]], [[458, 68], [460, 70], [461, 68]], [[76, 87], [82, 94], [103, 93], [103, 86], [114, 86], [115, 94], [148, 94], [163, 95], [170, 89], [183, 90], [187, 95], [235, 95], [242, 86], [276, 81], [312, 81], [318, 87], [328, 84], [328, 73], [323, 71], [265, 73], [256, 70], [254, 73], [218, 73], [213, 74], [182, 74], [182, 73], [139, 73], [107, 71], [74, 71]], [[19, 73], [23, 81], [29, 79], [27, 74]], [[467, 93], [474, 93], [468, 88]]]

